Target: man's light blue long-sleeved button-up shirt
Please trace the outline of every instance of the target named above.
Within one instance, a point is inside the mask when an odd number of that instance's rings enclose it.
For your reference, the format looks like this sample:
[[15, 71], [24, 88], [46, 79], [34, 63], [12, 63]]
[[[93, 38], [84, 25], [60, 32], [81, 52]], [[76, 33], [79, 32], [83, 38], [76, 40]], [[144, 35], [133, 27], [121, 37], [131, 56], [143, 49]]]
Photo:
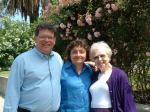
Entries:
[[54, 51], [46, 56], [34, 48], [19, 55], [11, 67], [4, 112], [16, 112], [18, 106], [31, 112], [57, 111], [62, 64]]

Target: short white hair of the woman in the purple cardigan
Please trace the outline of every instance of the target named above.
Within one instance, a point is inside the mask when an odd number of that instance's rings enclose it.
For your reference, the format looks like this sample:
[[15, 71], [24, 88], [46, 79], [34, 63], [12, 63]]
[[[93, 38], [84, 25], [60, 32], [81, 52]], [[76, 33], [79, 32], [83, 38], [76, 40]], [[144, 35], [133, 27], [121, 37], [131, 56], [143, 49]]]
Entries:
[[93, 43], [91, 48], [90, 48], [90, 58], [93, 59], [94, 58], [94, 54], [97, 50], [99, 49], [104, 49], [107, 53], [107, 55], [109, 56], [109, 58], [111, 58], [112, 56], [112, 50], [110, 48], [110, 46], [104, 42], [104, 41], [100, 41], [100, 42], [96, 42], [96, 43]]

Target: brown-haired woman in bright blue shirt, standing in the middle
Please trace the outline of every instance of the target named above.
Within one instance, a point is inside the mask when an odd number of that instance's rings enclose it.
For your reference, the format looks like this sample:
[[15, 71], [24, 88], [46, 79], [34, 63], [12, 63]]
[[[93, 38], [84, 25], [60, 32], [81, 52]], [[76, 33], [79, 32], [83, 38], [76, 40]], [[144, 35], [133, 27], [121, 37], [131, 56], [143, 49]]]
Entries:
[[88, 46], [77, 39], [67, 47], [68, 59], [61, 73], [61, 112], [89, 112], [92, 69], [85, 64]]

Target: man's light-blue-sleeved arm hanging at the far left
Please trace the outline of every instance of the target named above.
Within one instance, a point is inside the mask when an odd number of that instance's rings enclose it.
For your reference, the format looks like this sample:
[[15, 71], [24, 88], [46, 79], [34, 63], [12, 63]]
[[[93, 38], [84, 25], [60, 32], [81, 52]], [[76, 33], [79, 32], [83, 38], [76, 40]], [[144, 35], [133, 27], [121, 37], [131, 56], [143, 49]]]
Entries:
[[24, 77], [23, 68], [24, 64], [20, 58], [17, 58], [12, 64], [7, 82], [3, 112], [17, 112], [20, 99], [20, 88]]

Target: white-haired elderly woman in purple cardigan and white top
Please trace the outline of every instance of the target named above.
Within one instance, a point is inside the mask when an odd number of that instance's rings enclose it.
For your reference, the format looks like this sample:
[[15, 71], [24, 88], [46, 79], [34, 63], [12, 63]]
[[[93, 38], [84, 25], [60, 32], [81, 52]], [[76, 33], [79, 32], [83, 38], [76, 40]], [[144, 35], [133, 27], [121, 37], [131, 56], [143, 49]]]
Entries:
[[92, 77], [91, 112], [136, 112], [127, 74], [111, 65], [112, 50], [103, 41], [90, 48], [90, 58], [99, 72]]

